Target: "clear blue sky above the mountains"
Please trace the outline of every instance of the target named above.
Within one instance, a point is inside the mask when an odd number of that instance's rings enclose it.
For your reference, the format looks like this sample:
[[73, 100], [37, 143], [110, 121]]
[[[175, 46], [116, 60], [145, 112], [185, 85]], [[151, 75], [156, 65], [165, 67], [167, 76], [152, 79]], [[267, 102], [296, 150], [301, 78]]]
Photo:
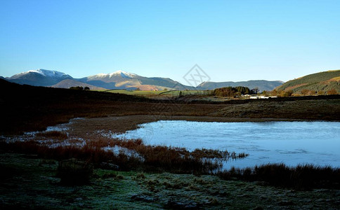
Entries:
[[340, 69], [336, 1], [0, 0], [0, 76], [130, 71], [184, 83], [289, 80]]

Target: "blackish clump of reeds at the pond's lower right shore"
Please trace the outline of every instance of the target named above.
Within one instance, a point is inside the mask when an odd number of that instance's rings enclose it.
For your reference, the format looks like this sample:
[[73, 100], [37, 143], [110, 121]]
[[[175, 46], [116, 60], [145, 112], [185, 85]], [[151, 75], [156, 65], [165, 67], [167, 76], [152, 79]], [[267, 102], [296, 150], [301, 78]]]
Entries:
[[285, 164], [268, 164], [245, 169], [232, 168], [218, 172], [222, 179], [241, 179], [245, 181], [265, 181], [272, 186], [310, 190], [312, 188], [340, 189], [340, 169], [298, 165], [287, 167]]

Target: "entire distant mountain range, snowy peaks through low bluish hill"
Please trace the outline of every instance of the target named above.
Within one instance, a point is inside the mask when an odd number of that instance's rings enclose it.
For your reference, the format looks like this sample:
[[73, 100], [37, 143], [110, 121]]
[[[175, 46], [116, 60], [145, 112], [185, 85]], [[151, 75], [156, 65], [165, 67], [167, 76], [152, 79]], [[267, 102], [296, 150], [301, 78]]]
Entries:
[[61, 71], [37, 69], [17, 73], [6, 78], [6, 80], [19, 84], [60, 88], [86, 85], [93, 90], [98, 90], [100, 88], [107, 90], [214, 90], [215, 88], [226, 86], [245, 86], [251, 89], [259, 87], [260, 90], [273, 90], [274, 87], [282, 85], [282, 82], [280, 81], [249, 80], [222, 83], [207, 81], [197, 85], [197, 87], [192, 87], [183, 85], [171, 78], [145, 77], [122, 70], [114, 71], [112, 73], [98, 73], [84, 78], [73, 78]]

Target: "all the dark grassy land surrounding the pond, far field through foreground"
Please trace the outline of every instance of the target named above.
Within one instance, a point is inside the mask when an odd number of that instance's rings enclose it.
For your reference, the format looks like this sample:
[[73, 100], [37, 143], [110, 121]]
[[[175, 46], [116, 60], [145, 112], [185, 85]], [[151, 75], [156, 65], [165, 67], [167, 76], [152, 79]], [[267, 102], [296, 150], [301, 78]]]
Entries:
[[[234, 171], [216, 176], [209, 172], [214, 162], [207, 164], [204, 160], [218, 158], [224, 154], [221, 151], [188, 153], [178, 148], [152, 147], [141, 141], [122, 142], [103, 136], [109, 132], [132, 130], [140, 123], [155, 120], [339, 121], [339, 95], [207, 102], [200, 98], [196, 101], [179, 97], [155, 100], [136, 94], [31, 87], [4, 80], [0, 80], [0, 87], [6, 90], [0, 96], [0, 139], [3, 140], [0, 167], [1, 172], [5, 172], [1, 173], [1, 209], [339, 207], [339, 181], [336, 182], [339, 169], [303, 168], [303, 172], [315, 174], [308, 176], [311, 183], [303, 184], [297, 181], [301, 179], [296, 175], [299, 169], [280, 166], [263, 166], [261, 169], [266, 172], [262, 174]], [[68, 125], [70, 130], [67, 132], [44, 132], [48, 126], [68, 123], [73, 118], [84, 120]], [[6, 139], [20, 138], [26, 138], [26, 141], [6, 143]], [[84, 141], [85, 148], [76, 146]], [[72, 144], [58, 146], [66, 143]], [[54, 144], [57, 146], [51, 148]], [[129, 158], [124, 153], [115, 156], [101, 149], [110, 145], [143, 153], [145, 161]], [[70, 158], [76, 158], [73, 167], [62, 171], [62, 162]], [[77, 174], [77, 164], [84, 164], [81, 170], [86, 169], [84, 172], [89, 174], [89, 179]], [[188, 165], [190, 167], [178, 167]], [[72, 174], [73, 170], [75, 174]], [[61, 172], [70, 174], [65, 177]], [[286, 180], [282, 173], [268, 176], [268, 172], [285, 172], [292, 179]], [[67, 178], [72, 177], [86, 178], [86, 183], [65, 184]]]

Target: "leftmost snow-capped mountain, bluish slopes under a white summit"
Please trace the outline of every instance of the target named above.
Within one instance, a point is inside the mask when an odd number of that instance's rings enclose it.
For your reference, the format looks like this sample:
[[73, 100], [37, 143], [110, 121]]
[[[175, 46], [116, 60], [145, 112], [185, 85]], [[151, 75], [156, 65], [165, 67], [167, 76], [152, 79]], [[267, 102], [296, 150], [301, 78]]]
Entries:
[[13, 83], [19, 84], [51, 86], [59, 83], [62, 80], [72, 79], [72, 76], [60, 71], [37, 69], [18, 73], [6, 79]]

